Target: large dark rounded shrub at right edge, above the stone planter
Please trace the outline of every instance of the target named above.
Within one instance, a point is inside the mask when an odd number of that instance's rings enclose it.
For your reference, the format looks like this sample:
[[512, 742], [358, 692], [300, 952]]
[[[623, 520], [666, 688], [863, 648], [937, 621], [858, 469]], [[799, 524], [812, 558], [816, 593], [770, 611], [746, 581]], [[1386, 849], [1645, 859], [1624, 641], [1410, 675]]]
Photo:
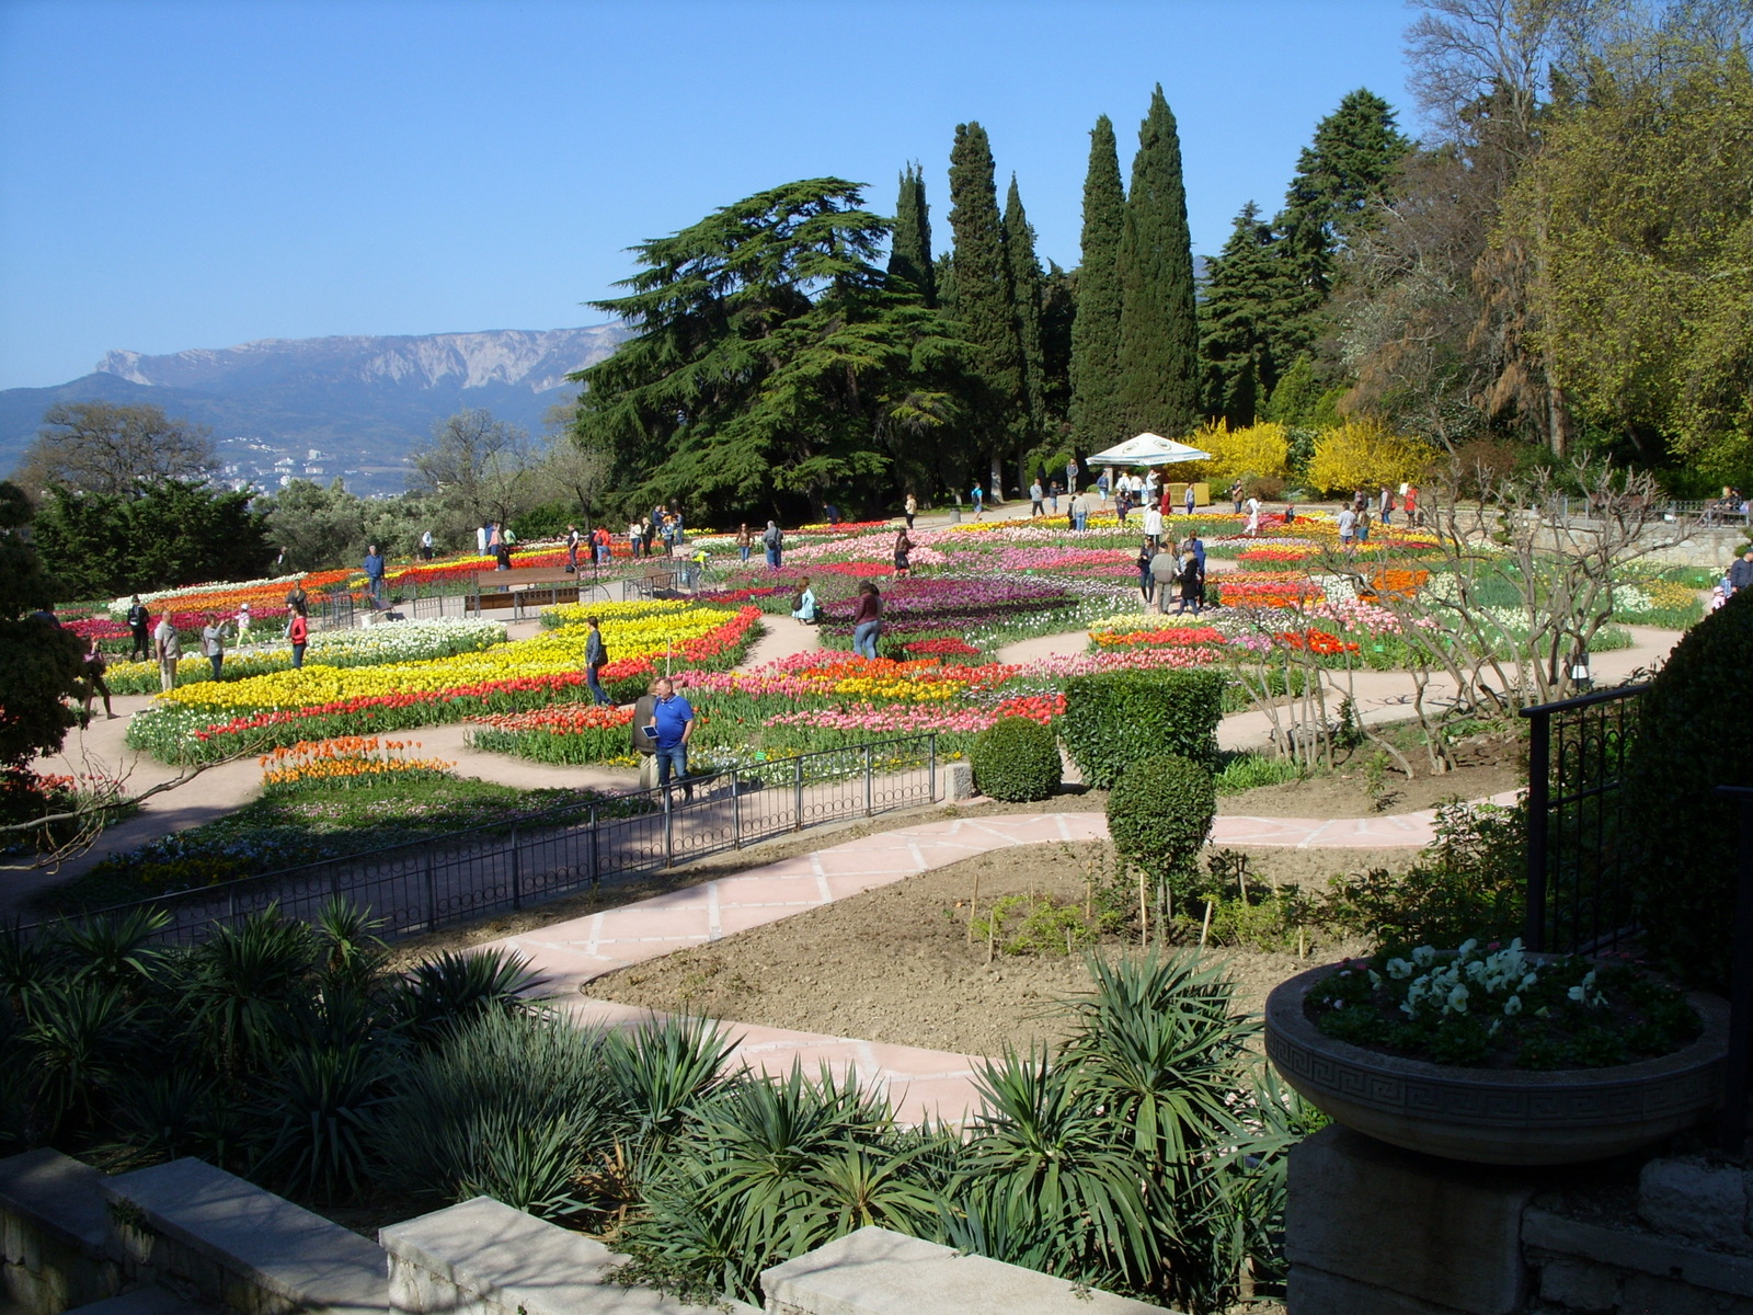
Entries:
[[1735, 594], [1674, 645], [1637, 700], [1625, 807], [1637, 913], [1651, 957], [1681, 980], [1728, 985], [1739, 805], [1716, 785], [1753, 785], [1746, 679], [1753, 593]]

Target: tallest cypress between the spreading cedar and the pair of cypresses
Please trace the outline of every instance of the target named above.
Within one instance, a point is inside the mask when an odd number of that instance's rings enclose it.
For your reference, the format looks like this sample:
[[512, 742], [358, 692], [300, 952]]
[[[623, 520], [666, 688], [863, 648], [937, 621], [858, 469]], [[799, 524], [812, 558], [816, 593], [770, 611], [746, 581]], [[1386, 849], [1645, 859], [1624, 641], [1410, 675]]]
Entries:
[[1004, 249], [1004, 223], [992, 181], [992, 146], [978, 123], [955, 124], [950, 149], [950, 231], [955, 237], [955, 319], [976, 349], [983, 396], [982, 451], [996, 461], [1026, 437], [1022, 338], [1017, 289]]

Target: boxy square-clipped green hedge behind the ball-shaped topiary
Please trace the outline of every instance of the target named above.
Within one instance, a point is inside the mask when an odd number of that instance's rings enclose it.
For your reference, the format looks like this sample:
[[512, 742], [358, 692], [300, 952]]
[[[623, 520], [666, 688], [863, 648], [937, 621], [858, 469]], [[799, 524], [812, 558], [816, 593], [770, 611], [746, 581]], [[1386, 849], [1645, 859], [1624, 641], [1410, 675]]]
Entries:
[[1110, 789], [1141, 757], [1217, 764], [1224, 677], [1217, 672], [1097, 672], [1066, 682], [1061, 735], [1083, 780]]

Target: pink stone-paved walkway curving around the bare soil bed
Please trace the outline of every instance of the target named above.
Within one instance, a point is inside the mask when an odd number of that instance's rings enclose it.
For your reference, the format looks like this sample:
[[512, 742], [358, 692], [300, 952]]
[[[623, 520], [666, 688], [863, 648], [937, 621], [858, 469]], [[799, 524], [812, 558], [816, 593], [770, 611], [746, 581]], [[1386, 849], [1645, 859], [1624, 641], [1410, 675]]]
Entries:
[[[1509, 798], [1499, 796], [1499, 801]], [[1434, 836], [1432, 817], [1430, 812], [1350, 819], [1218, 817], [1211, 843], [1422, 847]], [[549, 978], [549, 989], [580, 1020], [629, 1026], [649, 1019], [650, 1012], [589, 998], [586, 989], [593, 978], [976, 854], [1062, 840], [1103, 840], [1106, 835], [1108, 819], [1094, 812], [924, 822], [507, 936], [494, 945], [526, 954], [531, 968]], [[827, 1064], [836, 1077], [857, 1071], [866, 1084], [889, 1094], [905, 1122], [927, 1117], [961, 1122], [975, 1108], [976, 1061], [969, 1056], [740, 1022], [722, 1026], [738, 1038], [733, 1063], [771, 1075], [784, 1075], [792, 1063], [801, 1063], [810, 1077], [820, 1064]]]

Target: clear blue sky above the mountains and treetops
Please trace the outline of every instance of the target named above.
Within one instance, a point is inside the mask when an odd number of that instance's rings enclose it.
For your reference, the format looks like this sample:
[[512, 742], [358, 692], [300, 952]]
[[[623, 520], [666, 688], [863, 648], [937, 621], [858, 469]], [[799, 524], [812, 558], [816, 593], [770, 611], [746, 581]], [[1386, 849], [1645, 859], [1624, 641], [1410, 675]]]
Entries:
[[0, 0], [0, 387], [110, 347], [557, 328], [624, 247], [987, 126], [1075, 265], [1089, 128], [1180, 119], [1194, 249], [1271, 212], [1317, 119], [1406, 107], [1399, 0]]

